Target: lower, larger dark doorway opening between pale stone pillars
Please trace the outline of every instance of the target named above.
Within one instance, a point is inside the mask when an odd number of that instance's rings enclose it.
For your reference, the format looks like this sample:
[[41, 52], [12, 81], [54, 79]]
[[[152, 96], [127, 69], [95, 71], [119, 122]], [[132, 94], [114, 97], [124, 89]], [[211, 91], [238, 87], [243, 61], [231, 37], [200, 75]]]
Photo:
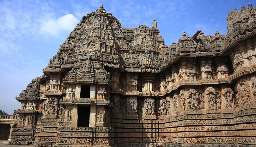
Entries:
[[89, 127], [90, 106], [78, 106], [78, 127]]

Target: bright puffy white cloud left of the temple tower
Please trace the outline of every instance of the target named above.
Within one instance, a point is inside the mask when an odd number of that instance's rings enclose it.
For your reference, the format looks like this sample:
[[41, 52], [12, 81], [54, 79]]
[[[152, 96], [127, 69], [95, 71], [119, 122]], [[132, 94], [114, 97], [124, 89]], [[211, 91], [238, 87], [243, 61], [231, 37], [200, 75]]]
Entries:
[[58, 19], [49, 19], [41, 25], [41, 33], [57, 36], [62, 31], [72, 31], [79, 20], [73, 14], [66, 14]]

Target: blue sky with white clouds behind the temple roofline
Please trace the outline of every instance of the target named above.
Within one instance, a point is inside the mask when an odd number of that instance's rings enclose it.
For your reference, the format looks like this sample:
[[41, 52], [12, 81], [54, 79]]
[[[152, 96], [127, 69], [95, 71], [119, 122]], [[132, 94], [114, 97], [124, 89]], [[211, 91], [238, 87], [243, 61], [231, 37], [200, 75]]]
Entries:
[[182, 32], [192, 36], [197, 30], [204, 35], [227, 33], [226, 17], [230, 10], [255, 0], [0, 0], [0, 109], [13, 113], [20, 103], [15, 100], [31, 79], [41, 76], [42, 69], [57, 53], [59, 46], [83, 15], [103, 3], [106, 11], [120, 20], [122, 27], [149, 27], [156, 19], [165, 44], [177, 42]]

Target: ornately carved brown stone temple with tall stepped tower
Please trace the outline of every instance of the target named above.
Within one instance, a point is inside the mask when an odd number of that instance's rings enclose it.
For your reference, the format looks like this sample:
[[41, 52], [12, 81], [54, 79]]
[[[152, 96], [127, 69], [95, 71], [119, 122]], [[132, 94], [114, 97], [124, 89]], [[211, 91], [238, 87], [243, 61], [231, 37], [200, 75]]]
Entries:
[[155, 20], [122, 28], [101, 4], [16, 97], [9, 144], [256, 145], [256, 10], [227, 23], [226, 35], [183, 32], [167, 46]]

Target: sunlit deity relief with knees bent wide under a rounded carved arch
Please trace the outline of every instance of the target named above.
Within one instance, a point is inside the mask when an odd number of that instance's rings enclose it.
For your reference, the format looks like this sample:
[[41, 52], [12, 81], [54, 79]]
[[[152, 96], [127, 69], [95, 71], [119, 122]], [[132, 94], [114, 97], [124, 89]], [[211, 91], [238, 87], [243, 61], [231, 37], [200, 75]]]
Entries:
[[188, 109], [199, 109], [197, 99], [198, 99], [197, 91], [194, 89], [190, 89], [188, 91], [188, 100], [187, 100]]

